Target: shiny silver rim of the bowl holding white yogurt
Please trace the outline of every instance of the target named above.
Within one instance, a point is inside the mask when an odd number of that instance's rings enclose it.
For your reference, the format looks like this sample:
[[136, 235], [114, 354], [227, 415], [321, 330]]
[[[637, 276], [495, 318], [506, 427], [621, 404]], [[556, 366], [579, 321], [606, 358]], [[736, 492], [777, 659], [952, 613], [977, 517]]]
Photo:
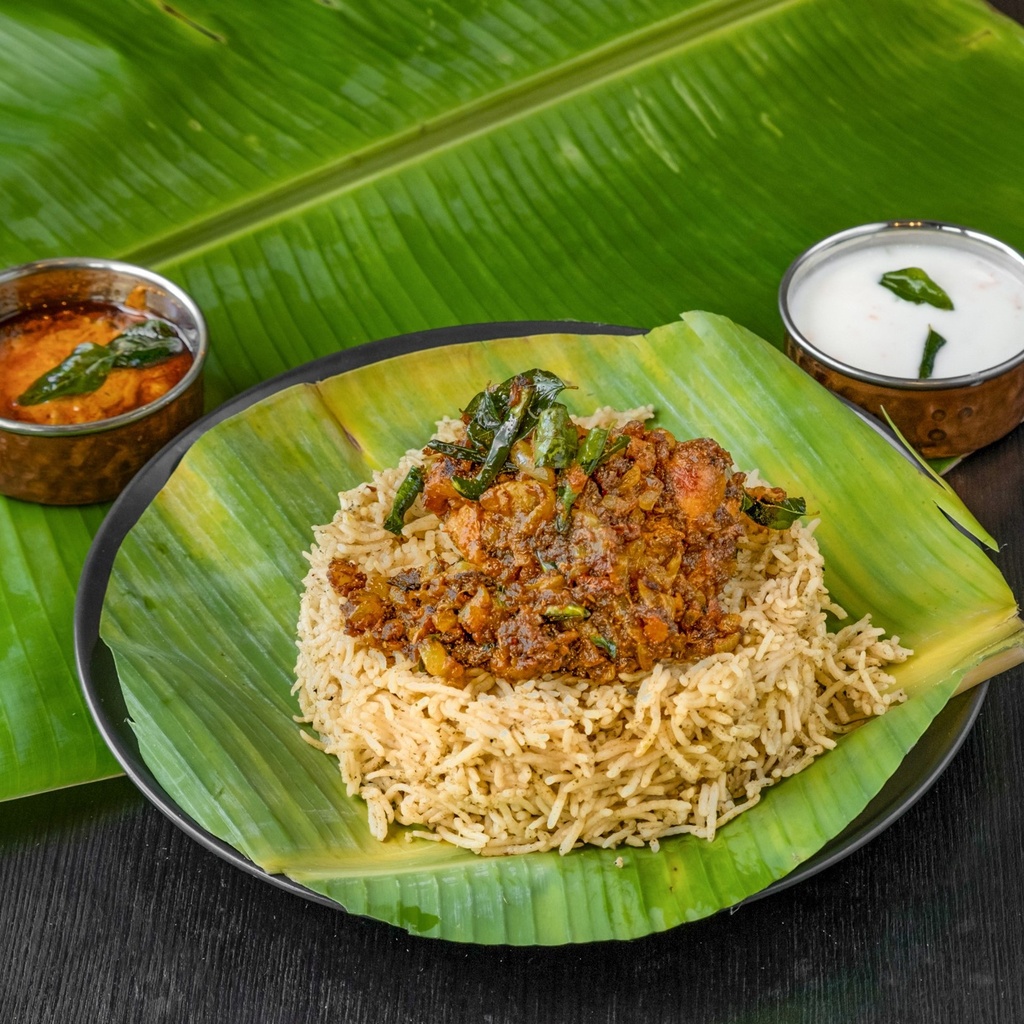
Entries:
[[837, 359], [808, 341], [794, 323], [790, 311], [790, 290], [794, 278], [810, 260], [823, 257], [830, 251], [839, 250], [851, 243], [856, 243], [876, 234], [884, 236], [889, 231], [922, 231], [926, 233], [940, 233], [944, 237], [969, 239], [974, 244], [994, 249], [1004, 258], [1016, 264], [1021, 272], [1022, 280], [1024, 280], [1024, 255], [1006, 242], [1001, 242], [994, 236], [986, 234], [984, 231], [979, 231], [976, 228], [965, 227], [963, 224], [955, 224], [945, 220], [901, 219], [858, 224], [855, 227], [848, 227], [845, 230], [837, 231], [835, 234], [829, 234], [820, 242], [816, 242], [810, 248], [805, 249], [786, 268], [778, 287], [778, 308], [782, 317], [782, 327], [788, 341], [807, 355], [810, 355], [818, 362], [823, 364], [837, 373], [865, 384], [873, 384], [877, 387], [899, 391], [949, 391], [961, 387], [976, 387], [979, 384], [1001, 377], [1004, 374], [1024, 364], [1024, 340], [1022, 340], [1021, 350], [1016, 355], [1012, 355], [1002, 362], [997, 362], [994, 366], [986, 367], [974, 373], [959, 374], [956, 377], [928, 377], [924, 380], [915, 377], [890, 377], [887, 374], [862, 370], [860, 367]]

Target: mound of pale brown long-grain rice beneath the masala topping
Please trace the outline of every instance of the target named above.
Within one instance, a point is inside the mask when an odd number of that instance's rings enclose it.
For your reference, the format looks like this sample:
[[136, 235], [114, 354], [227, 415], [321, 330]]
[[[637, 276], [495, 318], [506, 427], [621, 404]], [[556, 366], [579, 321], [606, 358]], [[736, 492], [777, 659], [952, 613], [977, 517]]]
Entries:
[[[601, 410], [585, 422], [650, 415]], [[437, 436], [453, 430], [441, 421]], [[419, 502], [400, 542], [382, 525], [422, 458], [407, 453], [343, 493], [333, 521], [314, 528], [298, 622], [297, 721], [338, 759], [376, 839], [398, 823], [412, 826], [407, 838], [488, 855], [656, 848], [682, 833], [712, 840], [766, 786], [905, 699], [886, 671], [911, 653], [897, 637], [869, 616], [829, 631], [829, 613], [848, 616], [824, 585], [815, 523], [741, 543], [722, 596], [742, 622], [729, 653], [607, 684], [545, 676], [513, 685], [469, 669], [453, 685], [408, 659], [389, 663], [344, 632], [327, 570], [335, 557], [387, 574], [461, 557]]]

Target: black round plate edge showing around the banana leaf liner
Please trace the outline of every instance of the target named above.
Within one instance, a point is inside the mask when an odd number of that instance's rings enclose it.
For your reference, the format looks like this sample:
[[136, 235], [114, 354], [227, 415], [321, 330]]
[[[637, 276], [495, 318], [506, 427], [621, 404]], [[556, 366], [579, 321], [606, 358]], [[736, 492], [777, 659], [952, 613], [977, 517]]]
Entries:
[[[188, 836], [234, 866], [317, 903], [338, 906], [334, 901], [284, 876], [268, 874], [233, 847], [212, 836], [178, 807], [157, 782], [142, 760], [135, 734], [128, 724], [128, 712], [113, 655], [99, 638], [100, 612], [118, 549], [197, 438], [222, 420], [293, 384], [312, 383], [326, 377], [346, 373], [356, 367], [368, 366], [422, 348], [534, 334], [642, 333], [638, 328], [607, 324], [529, 321], [439, 328], [370, 342], [323, 356], [250, 388], [197, 421], [155, 456], [129, 483], [103, 520], [86, 559], [75, 605], [75, 655], [86, 701], [114, 756], [142, 794]], [[876, 429], [880, 427], [876, 426]], [[884, 428], [881, 429], [885, 432]], [[905, 813], [931, 788], [959, 750], [981, 710], [987, 687], [988, 684], [984, 683], [951, 699], [903, 759], [902, 764], [879, 795], [857, 818], [815, 856], [804, 861], [785, 878], [779, 879], [746, 902], [780, 892], [831, 866], [888, 828]]]

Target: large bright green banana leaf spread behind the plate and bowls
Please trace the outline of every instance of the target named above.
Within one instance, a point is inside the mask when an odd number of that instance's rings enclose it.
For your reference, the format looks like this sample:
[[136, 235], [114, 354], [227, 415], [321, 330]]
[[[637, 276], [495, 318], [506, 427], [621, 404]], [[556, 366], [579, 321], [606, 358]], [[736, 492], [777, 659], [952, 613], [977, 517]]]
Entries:
[[[834, 230], [1024, 246], [1022, 41], [980, 0], [7, 0], [0, 262], [169, 274], [211, 408], [451, 324], [705, 308], [777, 343]], [[0, 500], [0, 799], [117, 770], [72, 642], [103, 512]]]

